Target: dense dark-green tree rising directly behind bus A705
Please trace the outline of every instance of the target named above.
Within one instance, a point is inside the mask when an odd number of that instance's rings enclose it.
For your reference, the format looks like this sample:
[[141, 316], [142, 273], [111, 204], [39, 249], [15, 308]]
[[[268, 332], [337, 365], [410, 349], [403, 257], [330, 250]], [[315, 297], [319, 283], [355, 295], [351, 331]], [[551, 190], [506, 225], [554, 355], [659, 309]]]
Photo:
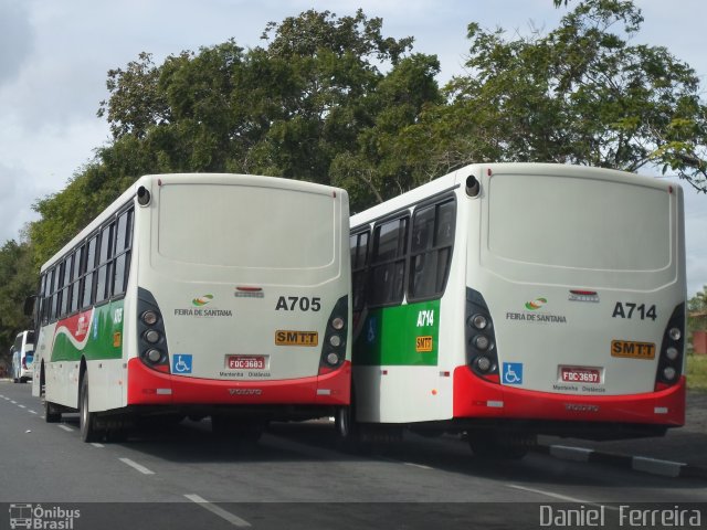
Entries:
[[443, 103], [436, 57], [409, 55], [412, 38], [386, 38], [382, 20], [361, 10], [341, 18], [309, 10], [268, 23], [262, 39], [266, 46], [229, 41], [161, 65], [143, 53], [110, 71], [98, 114], [115, 142], [102, 159], [128, 142], [125, 156], [159, 171], [335, 183], [350, 187], [361, 206], [414, 183], [394, 139], [426, 102]]

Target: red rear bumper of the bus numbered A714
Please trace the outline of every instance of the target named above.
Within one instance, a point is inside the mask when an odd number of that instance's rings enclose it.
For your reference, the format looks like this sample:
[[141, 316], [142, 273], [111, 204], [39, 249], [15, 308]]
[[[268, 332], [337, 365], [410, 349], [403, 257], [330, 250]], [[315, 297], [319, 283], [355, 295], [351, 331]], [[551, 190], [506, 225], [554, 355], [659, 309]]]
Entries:
[[454, 417], [680, 426], [685, 424], [685, 389], [682, 378], [667, 390], [647, 394], [556, 394], [490, 383], [467, 367], [458, 367], [454, 371]]

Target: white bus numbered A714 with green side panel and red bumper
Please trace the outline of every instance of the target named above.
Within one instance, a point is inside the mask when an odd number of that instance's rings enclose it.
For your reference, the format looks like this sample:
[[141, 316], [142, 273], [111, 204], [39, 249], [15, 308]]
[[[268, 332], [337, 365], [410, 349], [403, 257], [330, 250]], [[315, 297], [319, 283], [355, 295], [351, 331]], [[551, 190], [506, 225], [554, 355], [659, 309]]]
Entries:
[[354, 215], [350, 251], [350, 432], [465, 433], [520, 457], [537, 434], [683, 425], [679, 186], [473, 165]]

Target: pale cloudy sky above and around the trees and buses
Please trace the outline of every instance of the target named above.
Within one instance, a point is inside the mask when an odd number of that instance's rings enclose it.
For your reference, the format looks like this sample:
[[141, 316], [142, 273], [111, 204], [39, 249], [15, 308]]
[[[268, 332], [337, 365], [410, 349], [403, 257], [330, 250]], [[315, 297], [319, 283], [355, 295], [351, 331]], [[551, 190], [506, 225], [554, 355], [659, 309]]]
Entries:
[[[570, 0], [570, 7], [577, 0]], [[636, 0], [645, 21], [632, 43], [666, 46], [700, 76], [707, 99], [705, 0]], [[140, 52], [170, 54], [234, 39], [255, 47], [270, 21], [308, 9], [339, 17], [362, 8], [382, 32], [414, 36], [436, 54], [444, 84], [463, 73], [466, 26], [527, 34], [551, 30], [566, 9], [552, 0], [0, 0], [0, 245], [36, 219], [32, 204], [61, 191], [110, 140], [107, 72]], [[707, 195], [685, 184], [688, 296], [707, 285]]]

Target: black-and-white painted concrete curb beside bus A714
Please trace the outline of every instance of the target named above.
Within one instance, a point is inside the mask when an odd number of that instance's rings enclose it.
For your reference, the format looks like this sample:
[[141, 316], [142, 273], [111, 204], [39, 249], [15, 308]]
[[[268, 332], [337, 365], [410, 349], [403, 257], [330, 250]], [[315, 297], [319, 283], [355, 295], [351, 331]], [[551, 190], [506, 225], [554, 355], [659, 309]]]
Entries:
[[566, 445], [539, 445], [536, 451], [562, 460], [604, 464], [624, 469], [648, 473], [651, 475], [659, 475], [663, 477], [697, 478], [707, 480], [707, 467], [695, 466], [680, 462], [661, 460], [645, 456], [602, 453], [584, 447], [571, 447]]

